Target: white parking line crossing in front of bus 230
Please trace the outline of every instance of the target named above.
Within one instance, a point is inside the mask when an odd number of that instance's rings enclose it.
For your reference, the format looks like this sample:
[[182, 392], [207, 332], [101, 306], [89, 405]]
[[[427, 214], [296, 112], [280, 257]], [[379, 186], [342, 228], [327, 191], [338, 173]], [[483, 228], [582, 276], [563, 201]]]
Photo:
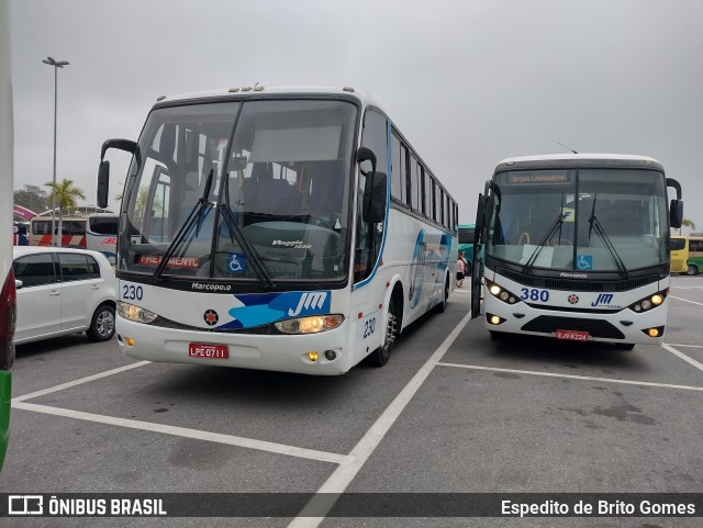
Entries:
[[153, 424], [150, 422], [142, 422], [137, 419], [116, 418], [114, 416], [104, 416], [92, 413], [82, 413], [80, 411], [71, 411], [67, 408], [51, 407], [48, 405], [37, 405], [34, 403], [25, 403], [12, 401], [12, 408], [23, 411], [33, 411], [35, 413], [51, 414], [54, 416], [63, 416], [66, 418], [76, 418], [87, 422], [96, 422], [98, 424], [114, 425], [119, 427], [127, 427], [130, 429], [146, 430], [152, 432], [160, 432], [177, 437], [192, 438], [194, 440], [207, 440], [217, 443], [226, 443], [228, 446], [237, 446], [242, 448], [256, 449], [258, 451], [267, 451], [278, 454], [288, 454], [289, 457], [298, 457], [302, 459], [316, 460], [320, 462], [332, 462], [335, 464], [345, 463], [348, 459], [345, 454], [330, 453], [325, 451], [315, 451], [294, 446], [286, 446], [284, 443], [275, 443], [264, 440], [254, 440], [232, 435], [222, 435], [219, 432], [208, 432], [198, 429], [189, 429], [186, 427], [175, 427], [170, 425]]

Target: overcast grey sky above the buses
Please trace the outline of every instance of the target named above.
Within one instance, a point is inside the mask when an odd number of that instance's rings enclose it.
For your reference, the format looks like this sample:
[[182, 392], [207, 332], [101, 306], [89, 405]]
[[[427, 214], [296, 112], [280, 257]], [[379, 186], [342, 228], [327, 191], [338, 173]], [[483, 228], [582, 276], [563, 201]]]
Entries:
[[328, 85], [379, 100], [462, 222], [501, 159], [560, 142], [659, 159], [702, 231], [702, 26], [700, 0], [12, 0], [15, 188], [52, 179], [52, 56], [57, 178], [91, 203], [158, 96]]

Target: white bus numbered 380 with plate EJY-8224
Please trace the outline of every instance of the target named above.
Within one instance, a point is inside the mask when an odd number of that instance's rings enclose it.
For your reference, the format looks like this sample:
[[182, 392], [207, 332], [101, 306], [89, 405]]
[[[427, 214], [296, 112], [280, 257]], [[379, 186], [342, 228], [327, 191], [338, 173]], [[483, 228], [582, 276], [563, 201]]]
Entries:
[[[667, 188], [677, 199], [667, 211]], [[607, 341], [631, 349], [663, 340], [669, 228], [681, 186], [651, 158], [568, 154], [500, 162], [479, 196], [483, 280], [472, 315], [502, 333]], [[481, 266], [475, 266], [475, 270]]]

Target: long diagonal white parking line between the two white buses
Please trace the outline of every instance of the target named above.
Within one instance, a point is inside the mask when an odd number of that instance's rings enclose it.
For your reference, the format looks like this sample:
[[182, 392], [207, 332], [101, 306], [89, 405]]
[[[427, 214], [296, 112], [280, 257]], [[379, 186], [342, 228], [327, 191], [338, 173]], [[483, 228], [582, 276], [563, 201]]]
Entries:
[[[451, 334], [439, 345], [439, 347], [433, 352], [429, 359], [415, 373], [412, 380], [403, 387], [403, 390], [395, 396], [395, 400], [383, 411], [381, 416], [376, 420], [371, 428], [366, 431], [364, 437], [354, 447], [345, 463], [341, 464], [325, 483], [317, 490], [319, 494], [324, 493], [343, 493], [347, 486], [352, 483], [359, 470], [364, 467], [371, 453], [379, 446], [386, 434], [395, 423], [400, 414], [408, 406], [413, 398], [417, 390], [427, 379], [432, 370], [439, 364], [439, 360], [445, 352], [454, 344], [459, 333], [464, 329], [467, 323], [471, 321], [471, 314], [467, 314], [461, 322], [456, 326]], [[288, 528], [316, 528], [324, 520], [324, 517], [306, 517], [310, 508], [314, 508], [314, 512], [330, 512], [334, 506], [334, 501], [330, 499], [330, 495], [325, 498], [313, 496], [303, 510], [295, 517]]]

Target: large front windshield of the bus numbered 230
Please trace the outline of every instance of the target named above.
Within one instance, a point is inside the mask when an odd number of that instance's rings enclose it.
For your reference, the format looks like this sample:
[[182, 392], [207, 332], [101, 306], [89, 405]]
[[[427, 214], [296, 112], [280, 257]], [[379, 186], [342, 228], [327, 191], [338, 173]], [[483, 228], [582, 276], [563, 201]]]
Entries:
[[347, 277], [355, 120], [354, 104], [328, 99], [154, 110], [130, 168], [119, 270], [268, 284]]

